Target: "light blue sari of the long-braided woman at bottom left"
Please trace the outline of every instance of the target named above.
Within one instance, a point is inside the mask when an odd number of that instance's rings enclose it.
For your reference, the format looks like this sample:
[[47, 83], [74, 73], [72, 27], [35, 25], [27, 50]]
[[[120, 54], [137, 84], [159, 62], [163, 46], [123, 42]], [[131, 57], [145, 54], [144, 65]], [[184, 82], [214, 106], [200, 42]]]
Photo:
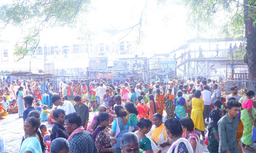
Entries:
[[22, 145], [20, 146], [20, 153], [25, 153], [26, 151], [30, 151], [31, 153], [42, 153], [42, 148], [40, 142], [36, 137], [26, 138]]

